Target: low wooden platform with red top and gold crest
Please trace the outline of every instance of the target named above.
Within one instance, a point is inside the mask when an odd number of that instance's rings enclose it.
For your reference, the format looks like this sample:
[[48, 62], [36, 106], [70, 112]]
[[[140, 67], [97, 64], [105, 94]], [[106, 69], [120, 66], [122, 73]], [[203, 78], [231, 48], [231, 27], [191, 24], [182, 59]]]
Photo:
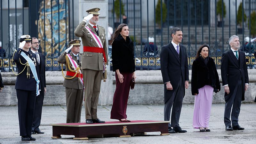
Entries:
[[74, 135], [75, 140], [88, 140], [88, 137], [131, 137], [145, 132], [161, 132], [161, 135], [169, 135], [169, 122], [138, 120], [126, 123], [116, 121], [102, 124], [69, 123], [50, 125], [52, 126], [52, 138], [61, 138], [61, 135]]

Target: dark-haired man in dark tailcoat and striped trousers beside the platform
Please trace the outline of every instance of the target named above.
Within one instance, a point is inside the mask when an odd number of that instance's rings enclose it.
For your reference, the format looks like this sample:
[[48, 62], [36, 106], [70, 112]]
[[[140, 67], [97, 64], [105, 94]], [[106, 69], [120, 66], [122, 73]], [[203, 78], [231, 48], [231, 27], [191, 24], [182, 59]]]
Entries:
[[180, 44], [183, 37], [181, 29], [173, 28], [171, 35], [172, 42], [165, 45], [160, 54], [164, 81], [164, 120], [170, 120], [172, 108], [169, 133], [183, 133], [187, 131], [180, 128], [179, 120], [185, 88], [188, 88], [188, 57], [186, 47]]

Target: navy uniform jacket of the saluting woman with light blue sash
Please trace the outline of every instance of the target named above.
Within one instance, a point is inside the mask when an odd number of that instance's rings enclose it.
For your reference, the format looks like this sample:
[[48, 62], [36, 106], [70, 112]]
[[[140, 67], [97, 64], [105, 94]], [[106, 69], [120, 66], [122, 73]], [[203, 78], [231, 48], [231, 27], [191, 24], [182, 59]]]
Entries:
[[[36, 60], [36, 54], [34, 54], [32, 52], [26, 52], [19, 48], [13, 56], [13, 60], [17, 64], [18, 74], [26, 66], [26, 65], [22, 65], [22, 64], [25, 64], [27, 62], [27, 60], [20, 55], [21, 52], [24, 52], [26, 55], [28, 55], [29, 58], [33, 62], [34, 62], [34, 60]], [[20, 62], [22, 64], [20, 64]], [[38, 79], [40, 80], [38, 64], [36, 64], [36, 73], [37, 73]], [[29, 74], [30, 74], [30, 76], [27, 78], [27, 68], [25, 68], [24, 71], [17, 76], [16, 83], [15, 83], [15, 89], [26, 90], [26, 91], [36, 91], [36, 80], [35, 80], [30, 68], [29, 68]], [[41, 89], [41, 85], [39, 83], [39, 90], [40, 89]]]

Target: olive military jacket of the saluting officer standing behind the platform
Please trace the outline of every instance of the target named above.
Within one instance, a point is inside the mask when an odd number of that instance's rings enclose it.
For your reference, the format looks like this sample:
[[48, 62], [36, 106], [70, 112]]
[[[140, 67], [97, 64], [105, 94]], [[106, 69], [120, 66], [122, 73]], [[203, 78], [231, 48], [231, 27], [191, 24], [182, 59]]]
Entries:
[[[65, 51], [61, 53], [61, 55], [58, 58], [58, 62], [66, 65], [66, 55], [67, 55], [67, 52]], [[73, 55], [72, 52], [70, 52], [70, 56], [72, 57], [72, 59], [75, 60], [78, 66], [81, 68], [82, 54], [78, 53], [78, 55], [79, 55], [79, 64], [78, 64], [78, 61], [76, 60], [76, 57]], [[69, 63], [72, 66], [71, 62]], [[71, 69], [74, 70], [74, 68], [71, 68]], [[68, 66], [66, 66], [66, 71], [70, 71]], [[83, 73], [82, 69], [81, 69], [81, 72]], [[72, 76], [66, 76], [66, 77], [72, 77]], [[79, 82], [78, 77], [74, 77], [72, 79], [64, 79], [63, 86], [71, 89], [78, 89], [78, 90], [84, 89], [84, 85], [81, 82]]]

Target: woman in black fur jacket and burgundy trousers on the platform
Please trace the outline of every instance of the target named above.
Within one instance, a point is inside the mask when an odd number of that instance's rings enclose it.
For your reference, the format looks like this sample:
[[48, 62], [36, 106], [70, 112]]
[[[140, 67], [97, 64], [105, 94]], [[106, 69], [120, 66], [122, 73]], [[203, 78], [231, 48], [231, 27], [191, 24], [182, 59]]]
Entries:
[[127, 24], [120, 24], [113, 36], [112, 43], [112, 64], [116, 72], [116, 91], [114, 93], [111, 109], [111, 119], [118, 119], [120, 122], [127, 120], [126, 108], [130, 92], [132, 77], [136, 78], [133, 42], [129, 37]]

